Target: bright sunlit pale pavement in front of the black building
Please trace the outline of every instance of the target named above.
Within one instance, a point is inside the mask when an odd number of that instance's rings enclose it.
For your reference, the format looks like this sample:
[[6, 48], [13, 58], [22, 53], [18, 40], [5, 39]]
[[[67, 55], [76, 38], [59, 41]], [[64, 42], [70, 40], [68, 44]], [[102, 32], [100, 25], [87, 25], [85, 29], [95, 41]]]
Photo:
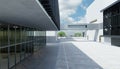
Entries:
[[120, 69], [120, 47], [96, 42], [72, 42], [103, 69]]

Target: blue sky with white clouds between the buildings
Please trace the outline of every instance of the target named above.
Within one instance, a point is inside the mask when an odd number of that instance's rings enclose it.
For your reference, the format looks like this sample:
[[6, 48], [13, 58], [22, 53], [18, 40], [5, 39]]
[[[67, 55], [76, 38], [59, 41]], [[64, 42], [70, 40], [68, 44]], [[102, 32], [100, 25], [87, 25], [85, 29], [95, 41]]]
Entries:
[[61, 24], [85, 22], [86, 9], [94, 0], [59, 0]]

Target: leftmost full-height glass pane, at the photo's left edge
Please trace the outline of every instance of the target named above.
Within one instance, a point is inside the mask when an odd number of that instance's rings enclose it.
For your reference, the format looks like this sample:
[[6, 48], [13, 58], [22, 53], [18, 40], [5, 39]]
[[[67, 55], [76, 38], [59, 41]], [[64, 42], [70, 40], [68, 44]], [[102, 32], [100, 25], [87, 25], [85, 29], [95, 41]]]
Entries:
[[0, 23], [0, 69], [8, 69], [8, 25]]

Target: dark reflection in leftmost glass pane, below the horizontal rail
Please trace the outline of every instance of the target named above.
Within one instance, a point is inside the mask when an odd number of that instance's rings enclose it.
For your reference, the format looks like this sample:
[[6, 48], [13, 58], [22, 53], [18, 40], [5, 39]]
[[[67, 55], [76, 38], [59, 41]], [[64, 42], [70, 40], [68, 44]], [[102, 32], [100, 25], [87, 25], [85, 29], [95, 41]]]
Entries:
[[0, 69], [8, 69], [8, 48], [0, 49]]

